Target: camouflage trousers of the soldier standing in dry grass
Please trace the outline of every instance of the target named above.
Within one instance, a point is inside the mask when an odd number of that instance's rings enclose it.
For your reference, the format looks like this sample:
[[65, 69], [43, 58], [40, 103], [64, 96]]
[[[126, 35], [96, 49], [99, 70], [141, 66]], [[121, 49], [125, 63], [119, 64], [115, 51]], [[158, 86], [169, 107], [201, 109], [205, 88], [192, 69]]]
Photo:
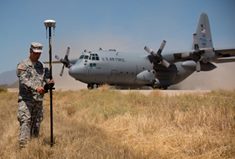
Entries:
[[20, 144], [26, 144], [32, 137], [38, 137], [43, 119], [42, 102], [19, 101], [18, 121], [20, 122]]

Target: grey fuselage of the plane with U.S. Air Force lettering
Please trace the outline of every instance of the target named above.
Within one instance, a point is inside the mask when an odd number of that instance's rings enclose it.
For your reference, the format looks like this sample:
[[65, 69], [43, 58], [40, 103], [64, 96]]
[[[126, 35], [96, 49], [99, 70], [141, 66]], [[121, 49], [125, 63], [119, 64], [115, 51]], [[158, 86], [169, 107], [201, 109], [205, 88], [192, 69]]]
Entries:
[[[173, 55], [164, 58], [174, 61]], [[143, 53], [125, 53], [116, 50], [99, 50], [94, 52], [83, 52], [78, 60], [69, 68], [69, 74], [81, 82], [90, 85], [109, 84], [116, 86], [153, 86], [168, 87], [176, 84], [195, 71], [195, 62], [176, 62], [165, 68], [159, 65], [155, 72], [156, 77], [138, 78], [138, 74], [144, 71], [153, 71], [153, 64]], [[154, 83], [154, 79], [159, 81]]]

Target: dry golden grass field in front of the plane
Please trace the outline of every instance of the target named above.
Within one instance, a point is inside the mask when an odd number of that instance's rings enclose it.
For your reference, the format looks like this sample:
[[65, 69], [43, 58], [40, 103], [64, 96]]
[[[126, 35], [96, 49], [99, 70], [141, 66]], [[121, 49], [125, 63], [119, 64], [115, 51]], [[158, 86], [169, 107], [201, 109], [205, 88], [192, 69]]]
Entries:
[[55, 91], [52, 148], [48, 95], [44, 108], [39, 139], [20, 150], [17, 93], [0, 92], [1, 159], [235, 158], [235, 91]]

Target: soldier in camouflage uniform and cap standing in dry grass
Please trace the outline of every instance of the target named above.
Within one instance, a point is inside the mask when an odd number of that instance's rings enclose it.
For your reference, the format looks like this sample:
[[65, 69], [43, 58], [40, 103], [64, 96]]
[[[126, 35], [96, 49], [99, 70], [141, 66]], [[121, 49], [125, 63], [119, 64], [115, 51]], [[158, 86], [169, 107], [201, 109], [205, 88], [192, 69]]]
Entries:
[[20, 147], [24, 147], [31, 137], [38, 137], [40, 123], [43, 119], [44, 86], [54, 85], [54, 81], [49, 79], [48, 69], [45, 69], [43, 64], [38, 61], [41, 52], [40, 43], [31, 43], [29, 58], [17, 65], [19, 78], [17, 117], [20, 122]]

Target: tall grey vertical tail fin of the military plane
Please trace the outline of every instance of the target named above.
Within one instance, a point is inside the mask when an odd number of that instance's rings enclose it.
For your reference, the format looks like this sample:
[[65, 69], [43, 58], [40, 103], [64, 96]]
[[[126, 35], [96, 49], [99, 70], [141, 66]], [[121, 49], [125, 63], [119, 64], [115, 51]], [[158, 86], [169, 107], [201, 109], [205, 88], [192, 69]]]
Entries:
[[202, 13], [197, 25], [196, 33], [193, 34], [193, 49], [213, 48], [209, 18]]

